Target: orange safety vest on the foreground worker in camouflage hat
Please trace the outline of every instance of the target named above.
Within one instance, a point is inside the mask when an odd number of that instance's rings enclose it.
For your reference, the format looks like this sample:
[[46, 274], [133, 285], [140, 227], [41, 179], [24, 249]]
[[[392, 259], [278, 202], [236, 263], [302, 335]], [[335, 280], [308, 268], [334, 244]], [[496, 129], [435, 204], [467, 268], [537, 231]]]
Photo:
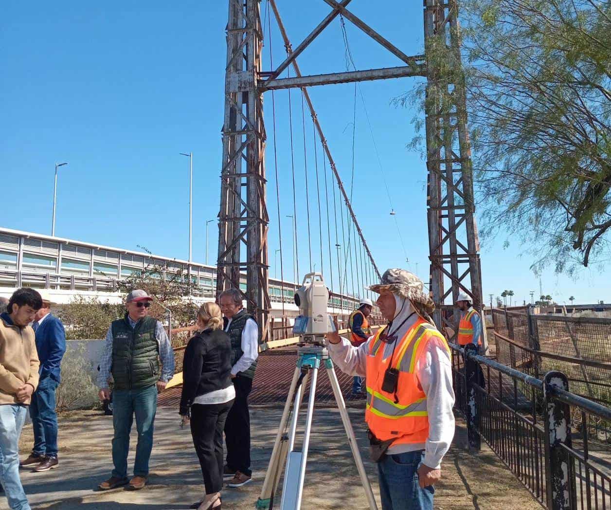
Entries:
[[399, 371], [395, 398], [395, 394], [382, 390], [384, 372], [389, 368], [391, 359], [390, 356], [384, 358], [386, 344], [379, 338], [382, 330], [370, 342], [367, 357], [365, 421], [381, 441], [394, 439], [393, 445], [424, 443], [428, 438], [426, 394], [414, 374], [415, 363], [430, 342], [444, 347], [448, 356], [450, 348], [437, 328], [419, 318], [395, 346], [392, 368]]

